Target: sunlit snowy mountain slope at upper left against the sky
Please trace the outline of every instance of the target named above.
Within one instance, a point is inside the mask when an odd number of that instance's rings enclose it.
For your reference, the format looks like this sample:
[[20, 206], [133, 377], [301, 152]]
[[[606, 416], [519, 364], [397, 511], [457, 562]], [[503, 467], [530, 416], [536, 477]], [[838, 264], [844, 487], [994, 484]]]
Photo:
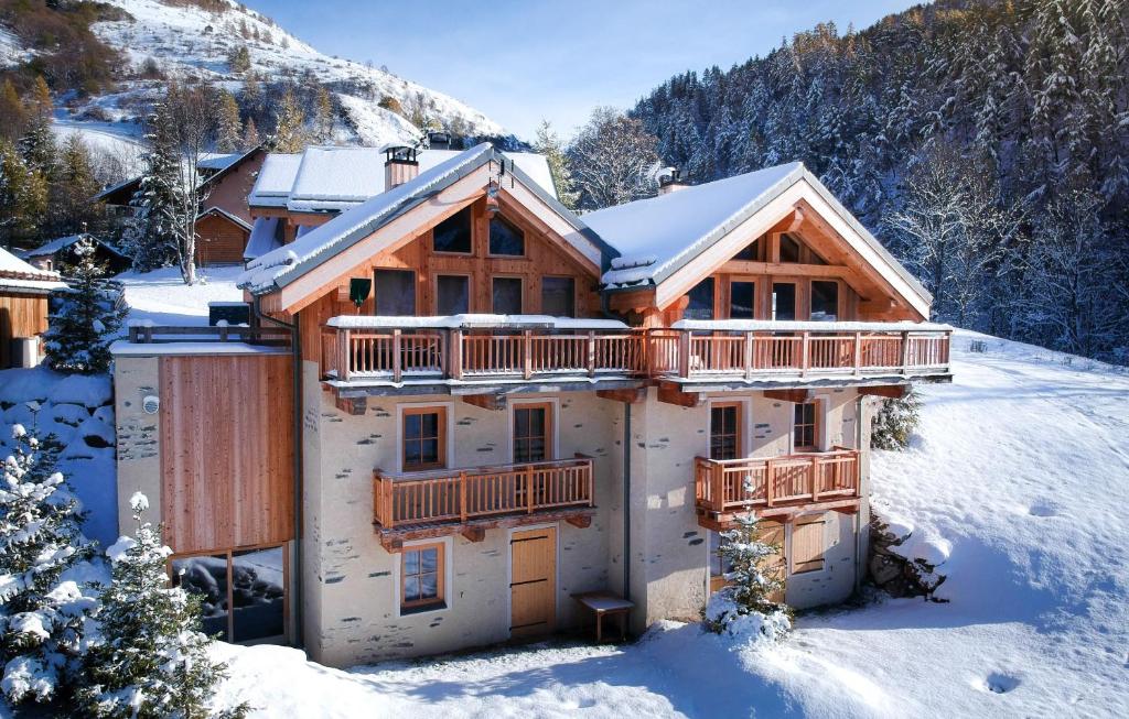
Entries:
[[[303, 43], [264, 16], [240, 9], [231, 2], [225, 12], [199, 7], [169, 6], [159, 0], [108, 0], [132, 16], [132, 20], [95, 24], [98, 37], [121, 50], [135, 68], [152, 60], [167, 74], [190, 74], [242, 87], [243, 76], [231, 72], [229, 53], [247, 47], [251, 66], [262, 81], [296, 79], [310, 73], [321, 82], [345, 88], [338, 92], [341, 105], [356, 127], [339, 128], [342, 141], [365, 144], [414, 140], [418, 131], [403, 117], [378, 103], [395, 98], [408, 107], [420, 99], [428, 113], [445, 122], [458, 122], [470, 134], [504, 134], [500, 125], [482, 113], [441, 92], [397, 78], [390, 72], [349, 60], [324, 55]], [[244, 35], [246, 34], [246, 37]], [[139, 91], [151, 91], [156, 83], [138, 80], [125, 83], [121, 94], [96, 98], [107, 115], [135, 110]], [[120, 100], [120, 101], [119, 101]], [[81, 112], [80, 108], [79, 112]]]

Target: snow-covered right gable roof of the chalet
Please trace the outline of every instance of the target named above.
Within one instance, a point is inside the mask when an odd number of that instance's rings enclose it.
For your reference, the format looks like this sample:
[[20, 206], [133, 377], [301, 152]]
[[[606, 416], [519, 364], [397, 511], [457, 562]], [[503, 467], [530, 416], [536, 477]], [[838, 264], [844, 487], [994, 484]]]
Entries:
[[658, 286], [786, 192], [803, 185], [870, 250], [874, 265], [910, 304], [933, 295], [804, 167], [791, 162], [584, 215], [584, 221], [620, 251], [604, 273], [605, 289]]

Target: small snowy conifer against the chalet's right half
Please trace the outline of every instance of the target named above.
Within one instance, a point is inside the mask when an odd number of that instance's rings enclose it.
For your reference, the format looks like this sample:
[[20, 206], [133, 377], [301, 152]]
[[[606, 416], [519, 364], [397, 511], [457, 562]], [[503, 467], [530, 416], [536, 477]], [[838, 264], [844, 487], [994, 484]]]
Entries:
[[791, 612], [770, 598], [784, 588], [769, 568], [780, 548], [762, 541], [756, 525], [756, 517], [742, 516], [736, 529], [721, 532], [718, 554], [729, 568], [729, 584], [710, 597], [704, 624], [716, 633], [777, 642], [791, 630]]

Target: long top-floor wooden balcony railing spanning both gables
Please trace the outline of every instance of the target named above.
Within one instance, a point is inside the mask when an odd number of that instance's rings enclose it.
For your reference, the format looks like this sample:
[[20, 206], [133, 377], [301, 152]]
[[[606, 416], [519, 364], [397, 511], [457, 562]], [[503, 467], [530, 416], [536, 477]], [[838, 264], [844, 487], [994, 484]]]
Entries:
[[[803, 323], [812, 325], [812, 323]], [[851, 325], [848, 325], [850, 327]], [[948, 372], [948, 328], [622, 331], [325, 327], [323, 374], [343, 381], [560, 376], [732, 381]]]

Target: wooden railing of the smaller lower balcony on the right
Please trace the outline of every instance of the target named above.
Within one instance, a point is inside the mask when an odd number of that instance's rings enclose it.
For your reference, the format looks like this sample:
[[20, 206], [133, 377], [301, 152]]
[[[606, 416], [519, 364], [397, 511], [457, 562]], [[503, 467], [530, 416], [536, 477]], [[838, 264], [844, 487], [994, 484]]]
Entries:
[[726, 514], [859, 496], [858, 450], [694, 461], [698, 508]]

